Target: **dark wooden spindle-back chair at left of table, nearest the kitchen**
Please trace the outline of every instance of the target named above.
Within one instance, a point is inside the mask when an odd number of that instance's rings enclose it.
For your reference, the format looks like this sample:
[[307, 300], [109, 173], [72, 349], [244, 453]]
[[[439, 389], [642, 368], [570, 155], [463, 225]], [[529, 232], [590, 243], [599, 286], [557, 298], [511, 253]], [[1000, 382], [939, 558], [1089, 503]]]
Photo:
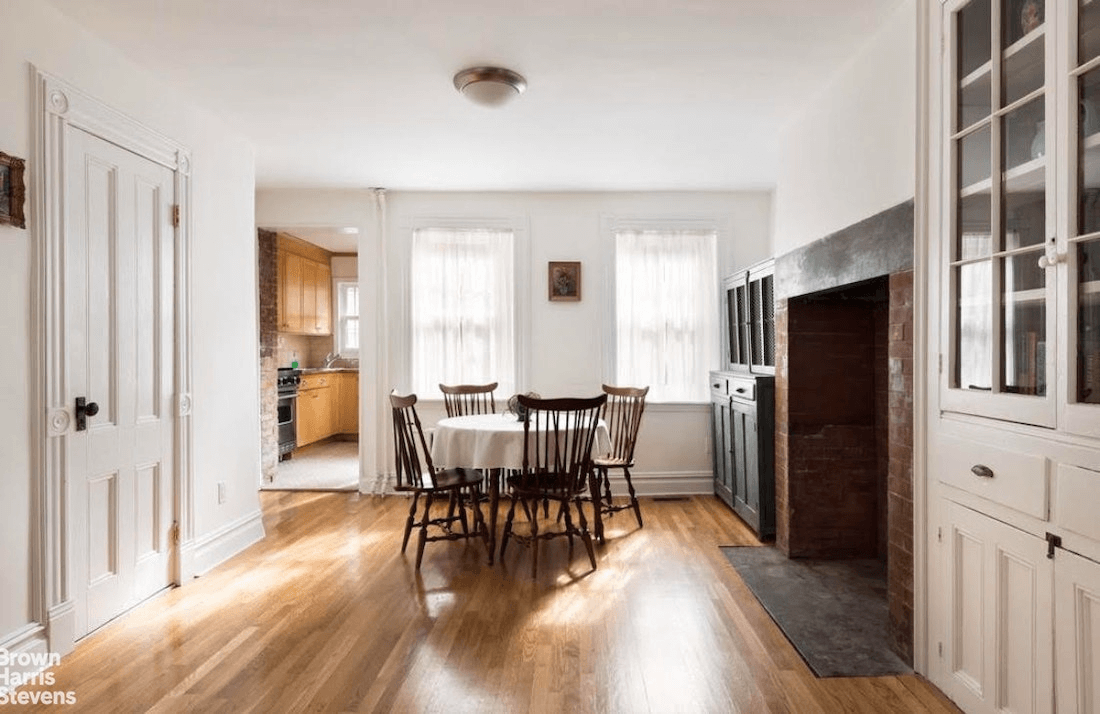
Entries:
[[[411, 492], [413, 505], [405, 521], [405, 536], [402, 538], [402, 552], [409, 542], [409, 534], [414, 527], [420, 529], [416, 550], [416, 567], [420, 569], [424, 560], [424, 547], [428, 541], [459, 540], [481, 536], [490, 548], [488, 529], [482, 517], [481, 483], [482, 474], [473, 469], [437, 470], [431, 462], [428, 442], [420, 427], [420, 417], [416, 413], [416, 395], [389, 395], [389, 404], [394, 413], [394, 454], [397, 461], [398, 492]], [[425, 497], [424, 514], [417, 520], [417, 506], [420, 496]], [[440, 496], [448, 502], [447, 515], [431, 516], [432, 503]], [[466, 523], [466, 507], [474, 513], [474, 530], [470, 531]], [[453, 530], [454, 524], [462, 526], [462, 532]], [[441, 535], [428, 535], [428, 528], [439, 528]]]

